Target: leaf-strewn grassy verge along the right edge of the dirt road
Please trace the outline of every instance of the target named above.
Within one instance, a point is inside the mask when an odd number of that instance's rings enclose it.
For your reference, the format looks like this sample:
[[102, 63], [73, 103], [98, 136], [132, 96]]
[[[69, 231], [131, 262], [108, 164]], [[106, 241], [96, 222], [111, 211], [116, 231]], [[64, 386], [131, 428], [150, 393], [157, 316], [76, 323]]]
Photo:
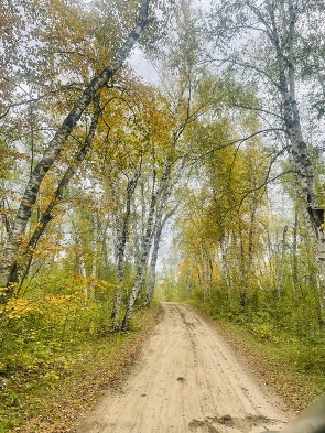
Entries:
[[219, 332], [267, 386], [275, 390], [286, 409], [300, 412], [325, 392], [325, 336], [297, 338], [290, 331], [258, 332], [251, 323], [214, 318]]

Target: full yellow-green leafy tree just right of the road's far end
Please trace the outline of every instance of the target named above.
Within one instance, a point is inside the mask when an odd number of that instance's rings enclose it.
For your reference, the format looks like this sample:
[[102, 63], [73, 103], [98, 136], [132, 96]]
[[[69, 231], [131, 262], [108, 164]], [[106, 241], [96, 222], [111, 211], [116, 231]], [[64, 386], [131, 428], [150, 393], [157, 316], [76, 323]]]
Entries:
[[[205, 125], [205, 133], [209, 130], [216, 139], [217, 130], [221, 141], [225, 130], [214, 127]], [[209, 302], [212, 293], [226, 292], [225, 307], [230, 310], [249, 305], [262, 269], [266, 188], [261, 185], [268, 158], [254, 141], [245, 149], [221, 147], [203, 160], [196, 188], [185, 196], [186, 213], [178, 215], [180, 278], [187, 279], [192, 267], [203, 299]]]

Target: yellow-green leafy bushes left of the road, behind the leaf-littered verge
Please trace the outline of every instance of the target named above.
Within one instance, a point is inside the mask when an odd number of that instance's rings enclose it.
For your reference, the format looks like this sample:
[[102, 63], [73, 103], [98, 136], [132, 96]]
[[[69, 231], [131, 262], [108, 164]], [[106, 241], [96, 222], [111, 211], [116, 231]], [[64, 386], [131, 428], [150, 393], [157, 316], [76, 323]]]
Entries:
[[[85, 297], [85, 286], [89, 283], [93, 299]], [[12, 426], [7, 410], [12, 420], [21, 418], [26, 396], [31, 396], [28, 399], [31, 407], [37, 404], [39, 393], [56, 387], [71, 375], [76, 364], [75, 351], [111, 334], [112, 289], [107, 282], [87, 281], [57, 270], [47, 273], [47, 279], [43, 272], [30, 289], [33, 297], [12, 299], [0, 322], [3, 432]]]

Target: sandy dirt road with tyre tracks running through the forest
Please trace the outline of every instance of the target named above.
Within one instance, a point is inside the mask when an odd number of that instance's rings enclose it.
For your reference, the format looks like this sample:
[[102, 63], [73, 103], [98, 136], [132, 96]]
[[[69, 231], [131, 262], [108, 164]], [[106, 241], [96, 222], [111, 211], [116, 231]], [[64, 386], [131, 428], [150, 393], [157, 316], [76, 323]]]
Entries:
[[[163, 320], [121, 391], [108, 392], [78, 433], [257, 433], [285, 415], [217, 334], [183, 304]], [[278, 404], [280, 404], [278, 402]]]

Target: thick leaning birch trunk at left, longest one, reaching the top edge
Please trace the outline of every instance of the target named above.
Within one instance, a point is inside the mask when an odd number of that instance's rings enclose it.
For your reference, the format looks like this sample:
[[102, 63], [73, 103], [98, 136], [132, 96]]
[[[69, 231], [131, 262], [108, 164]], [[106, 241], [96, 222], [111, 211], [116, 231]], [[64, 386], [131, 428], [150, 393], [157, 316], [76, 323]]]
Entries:
[[14, 285], [19, 280], [18, 256], [22, 237], [31, 218], [41, 184], [55, 161], [57, 161], [65, 143], [74, 128], [77, 126], [84, 112], [98, 95], [98, 91], [107, 85], [111, 77], [120, 69], [129, 56], [136, 42], [143, 33], [149, 23], [150, 0], [143, 0], [140, 4], [139, 14], [134, 28], [130, 31], [127, 40], [118, 50], [112, 62], [85, 87], [80, 97], [76, 100], [71, 112], [50, 141], [41, 160], [31, 172], [28, 185], [20, 202], [20, 206], [11, 227], [11, 232], [3, 249], [3, 258], [0, 263], [0, 288], [6, 295], [1, 302], [7, 303], [13, 295]]

